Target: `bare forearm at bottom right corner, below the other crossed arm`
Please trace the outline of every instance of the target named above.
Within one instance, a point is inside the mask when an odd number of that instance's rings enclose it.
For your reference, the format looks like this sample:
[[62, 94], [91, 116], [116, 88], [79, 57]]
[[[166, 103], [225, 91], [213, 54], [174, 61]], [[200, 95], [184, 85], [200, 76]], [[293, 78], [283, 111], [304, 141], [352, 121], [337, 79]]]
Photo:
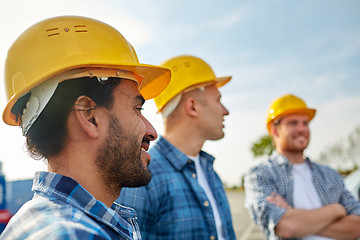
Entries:
[[360, 238], [360, 216], [350, 215], [329, 224], [316, 235], [335, 239]]

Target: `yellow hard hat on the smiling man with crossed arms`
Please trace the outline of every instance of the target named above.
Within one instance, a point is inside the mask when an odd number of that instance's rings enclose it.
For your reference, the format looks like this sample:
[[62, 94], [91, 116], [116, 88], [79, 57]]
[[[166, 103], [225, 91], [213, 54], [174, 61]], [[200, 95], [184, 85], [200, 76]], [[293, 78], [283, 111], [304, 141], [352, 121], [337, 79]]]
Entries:
[[308, 108], [306, 103], [301, 98], [298, 98], [292, 94], [286, 94], [270, 103], [267, 111], [267, 129], [270, 132], [271, 123], [275, 119], [280, 118], [286, 114], [304, 113], [309, 116], [310, 120], [312, 120], [315, 112], [316, 110]]

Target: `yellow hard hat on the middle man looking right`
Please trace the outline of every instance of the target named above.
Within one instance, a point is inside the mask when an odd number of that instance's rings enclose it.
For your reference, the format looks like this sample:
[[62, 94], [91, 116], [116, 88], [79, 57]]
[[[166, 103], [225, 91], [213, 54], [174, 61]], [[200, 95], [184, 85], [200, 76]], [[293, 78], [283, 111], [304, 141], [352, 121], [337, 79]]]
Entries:
[[154, 98], [159, 112], [172, 98], [191, 86], [214, 82], [217, 87], [221, 87], [231, 80], [231, 76], [217, 78], [209, 64], [190, 55], [177, 56], [160, 65], [171, 69], [171, 81], [165, 90]]

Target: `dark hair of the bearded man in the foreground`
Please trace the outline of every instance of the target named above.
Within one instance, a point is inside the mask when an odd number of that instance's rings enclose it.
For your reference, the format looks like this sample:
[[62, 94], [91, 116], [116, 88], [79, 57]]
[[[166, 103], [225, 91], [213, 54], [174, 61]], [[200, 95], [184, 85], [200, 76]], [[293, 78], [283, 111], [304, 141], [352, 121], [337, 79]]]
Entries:
[[[96, 77], [83, 77], [59, 83], [54, 95], [26, 135], [29, 154], [35, 159], [58, 154], [65, 144], [67, 118], [78, 97], [87, 96], [97, 106], [111, 109], [114, 101], [113, 90], [120, 81], [119, 78], [109, 78], [100, 83]], [[22, 110], [15, 109], [15, 115], [19, 116]]]

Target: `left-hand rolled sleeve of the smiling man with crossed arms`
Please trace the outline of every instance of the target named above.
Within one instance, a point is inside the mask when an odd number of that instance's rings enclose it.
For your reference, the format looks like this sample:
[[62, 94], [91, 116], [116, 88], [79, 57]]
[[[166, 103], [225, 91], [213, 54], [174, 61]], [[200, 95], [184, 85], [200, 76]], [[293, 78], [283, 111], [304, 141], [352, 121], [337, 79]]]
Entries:
[[254, 222], [265, 232], [273, 231], [286, 212], [286, 209], [279, 208], [266, 200], [266, 197], [272, 193], [280, 194], [276, 183], [280, 180], [266, 166], [251, 169], [244, 179], [246, 208]]

